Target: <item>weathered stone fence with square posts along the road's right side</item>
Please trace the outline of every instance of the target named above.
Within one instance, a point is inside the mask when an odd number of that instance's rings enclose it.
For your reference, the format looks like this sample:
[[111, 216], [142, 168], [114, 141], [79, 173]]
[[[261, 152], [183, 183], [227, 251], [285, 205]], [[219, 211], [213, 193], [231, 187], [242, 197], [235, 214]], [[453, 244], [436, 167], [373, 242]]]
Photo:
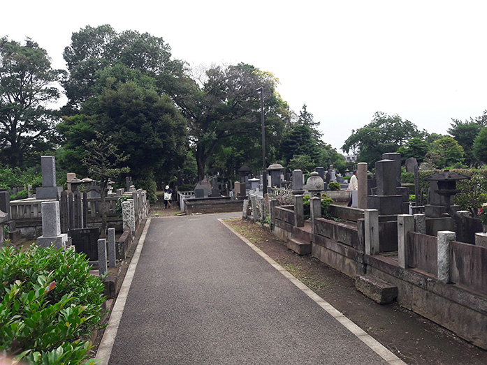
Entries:
[[[402, 306], [487, 349], [487, 248], [456, 241], [451, 232], [461, 224], [478, 230], [478, 222], [461, 216], [457, 223], [424, 214], [379, 216], [375, 209], [332, 204], [329, 210], [341, 218], [337, 222], [321, 218], [319, 204], [319, 198], [310, 199], [312, 218], [305, 222], [314, 257], [351, 277], [367, 274], [391, 283]], [[288, 241], [306, 237], [300, 234], [305, 227], [296, 225], [300, 211], [273, 207], [274, 234]], [[461, 231], [458, 236], [472, 233]]]

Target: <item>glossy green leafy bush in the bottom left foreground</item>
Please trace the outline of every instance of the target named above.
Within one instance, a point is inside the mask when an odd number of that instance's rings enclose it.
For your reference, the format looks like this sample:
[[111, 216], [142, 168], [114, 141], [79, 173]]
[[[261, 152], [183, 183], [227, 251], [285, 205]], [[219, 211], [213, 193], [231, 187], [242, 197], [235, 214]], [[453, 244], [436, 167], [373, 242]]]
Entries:
[[[33, 246], [0, 250], [0, 352], [29, 364], [80, 364], [99, 326], [104, 285], [86, 255]], [[85, 364], [94, 364], [86, 362]]]

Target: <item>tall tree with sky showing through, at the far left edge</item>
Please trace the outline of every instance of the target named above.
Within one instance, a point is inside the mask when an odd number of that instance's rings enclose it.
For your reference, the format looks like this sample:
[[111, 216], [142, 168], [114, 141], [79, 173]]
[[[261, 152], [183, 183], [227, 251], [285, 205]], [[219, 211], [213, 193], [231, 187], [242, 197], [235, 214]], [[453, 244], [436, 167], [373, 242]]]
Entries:
[[21, 45], [0, 38], [0, 156], [8, 165], [38, 163], [38, 154], [52, 149], [56, 117], [47, 105], [59, 98], [61, 75], [31, 39]]

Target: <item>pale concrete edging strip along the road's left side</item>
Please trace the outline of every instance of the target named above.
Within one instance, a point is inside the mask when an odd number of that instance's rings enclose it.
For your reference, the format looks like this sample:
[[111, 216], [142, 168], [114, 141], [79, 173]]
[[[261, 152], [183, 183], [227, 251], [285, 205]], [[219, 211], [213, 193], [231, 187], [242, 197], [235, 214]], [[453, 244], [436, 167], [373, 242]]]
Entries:
[[122, 314], [124, 312], [125, 302], [127, 295], [129, 294], [130, 286], [133, 280], [133, 274], [135, 274], [138, 264], [138, 259], [140, 258], [140, 253], [144, 246], [145, 237], [147, 236], [147, 231], [149, 230], [151, 218], [147, 218], [145, 222], [144, 230], [140, 234], [140, 239], [137, 244], [135, 253], [133, 253], [133, 258], [131, 259], [129, 268], [126, 271], [124, 282], [122, 287], [115, 299], [115, 304], [113, 304], [112, 313], [110, 313], [110, 319], [108, 320], [108, 325], [103, 333], [103, 338], [101, 338], [101, 343], [99, 345], [98, 351], [96, 351], [96, 360], [100, 362], [100, 365], [108, 365], [110, 361], [110, 355], [112, 355], [113, 344], [115, 343], [115, 336], [117, 336], [118, 327], [120, 320], [122, 320]]

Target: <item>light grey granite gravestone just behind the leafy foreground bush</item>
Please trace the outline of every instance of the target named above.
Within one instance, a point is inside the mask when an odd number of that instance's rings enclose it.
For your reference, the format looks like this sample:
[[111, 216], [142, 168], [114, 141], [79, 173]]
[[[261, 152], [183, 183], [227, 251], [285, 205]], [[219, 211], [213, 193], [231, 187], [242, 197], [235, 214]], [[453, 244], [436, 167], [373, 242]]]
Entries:
[[41, 247], [56, 248], [66, 246], [68, 234], [61, 233], [61, 219], [59, 215], [59, 202], [42, 202], [43, 235], [37, 238], [37, 244]]

